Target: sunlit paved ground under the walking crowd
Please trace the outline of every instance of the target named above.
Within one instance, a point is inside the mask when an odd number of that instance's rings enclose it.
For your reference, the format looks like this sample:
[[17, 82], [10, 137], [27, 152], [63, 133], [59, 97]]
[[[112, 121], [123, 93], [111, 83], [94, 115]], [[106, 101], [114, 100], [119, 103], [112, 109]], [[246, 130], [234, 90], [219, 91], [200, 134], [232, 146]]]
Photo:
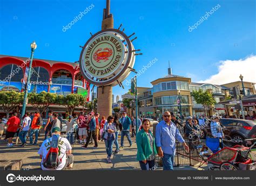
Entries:
[[[42, 143], [43, 137], [39, 137], [39, 143]], [[87, 149], [81, 148], [80, 144], [72, 145], [72, 153], [74, 155], [74, 166], [72, 170], [140, 170], [138, 161], [136, 161], [137, 146], [132, 139], [133, 146], [129, 147], [129, 142], [125, 138], [124, 148], [120, 149], [119, 154], [112, 156], [112, 163], [107, 163], [105, 143], [99, 142], [98, 148], [93, 148], [94, 144], [89, 144]], [[120, 139], [119, 139], [120, 144]], [[23, 160], [22, 169], [24, 170], [40, 170], [39, 164], [41, 160], [37, 154], [38, 146], [6, 147], [6, 142], [0, 142], [0, 160]], [[113, 145], [113, 150], [115, 146]], [[163, 169], [162, 167], [158, 168]], [[157, 170], [158, 170], [157, 169]], [[177, 170], [202, 170], [194, 167], [176, 167]]]

